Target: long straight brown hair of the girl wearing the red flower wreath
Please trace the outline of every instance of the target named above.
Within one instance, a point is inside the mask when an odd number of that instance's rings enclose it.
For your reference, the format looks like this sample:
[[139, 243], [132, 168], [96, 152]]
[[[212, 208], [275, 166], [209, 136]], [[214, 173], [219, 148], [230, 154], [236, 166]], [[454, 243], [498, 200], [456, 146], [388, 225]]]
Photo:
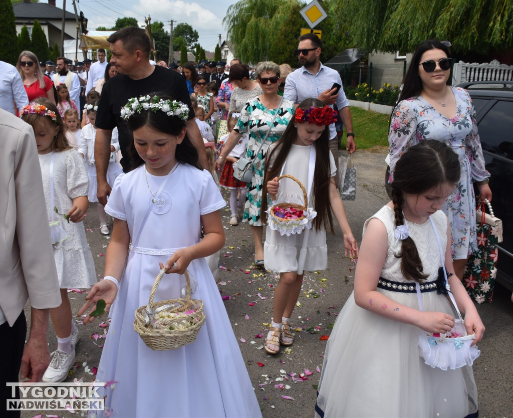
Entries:
[[[299, 105], [298, 109], [308, 110], [310, 107], [323, 107], [324, 103], [318, 99], [305, 99]], [[273, 147], [271, 152], [265, 157], [266, 161], [272, 161], [275, 156], [272, 167], [265, 168], [264, 187], [262, 191], [262, 208], [261, 217], [265, 222], [267, 210], [267, 182], [275, 177], [280, 176], [280, 172], [285, 160], [292, 148], [293, 142], [298, 137], [298, 128], [294, 126], [294, 115], [290, 120], [282, 137]], [[313, 202], [317, 216], [313, 220], [313, 225], [318, 231], [324, 225], [324, 229], [328, 229], [333, 233], [333, 220], [331, 218], [329, 204], [329, 183], [330, 183], [330, 164], [329, 164], [329, 129], [326, 127], [321, 136], [313, 142], [315, 147], [315, 169], [313, 172]]]

